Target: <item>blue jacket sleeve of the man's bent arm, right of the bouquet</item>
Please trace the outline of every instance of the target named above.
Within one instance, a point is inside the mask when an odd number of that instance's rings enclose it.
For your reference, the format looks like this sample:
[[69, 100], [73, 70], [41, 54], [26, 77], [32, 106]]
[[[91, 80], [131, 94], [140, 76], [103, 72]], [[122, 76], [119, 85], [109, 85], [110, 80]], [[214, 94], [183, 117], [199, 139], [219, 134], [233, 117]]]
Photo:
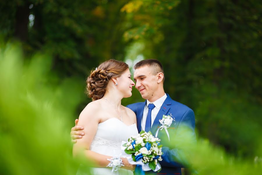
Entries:
[[[187, 138], [187, 139], [186, 139]], [[185, 142], [187, 146], [194, 146], [195, 136], [195, 115], [192, 109], [185, 112], [179, 122], [176, 134], [170, 137], [170, 141], [162, 147], [162, 161], [164, 167], [187, 167]]]

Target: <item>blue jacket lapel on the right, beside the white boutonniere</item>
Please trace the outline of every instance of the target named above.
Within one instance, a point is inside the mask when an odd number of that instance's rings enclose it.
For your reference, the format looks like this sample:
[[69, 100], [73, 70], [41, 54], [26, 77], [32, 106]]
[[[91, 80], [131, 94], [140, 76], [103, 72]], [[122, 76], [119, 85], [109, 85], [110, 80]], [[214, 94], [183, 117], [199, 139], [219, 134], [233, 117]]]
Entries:
[[[157, 113], [157, 116], [156, 116], [156, 118], [155, 118], [155, 120], [153, 122], [153, 125], [151, 127], [151, 132], [152, 132], [153, 135], [155, 135], [155, 133], [157, 131], [157, 127], [160, 125], [159, 120], [161, 120], [163, 118], [163, 115], [166, 115], [168, 110], [170, 109], [169, 105], [171, 105], [171, 102], [172, 102], [172, 99], [167, 94], [167, 98], [165, 99], [164, 103], [160, 107], [160, 110]], [[141, 125], [141, 123], [140, 123], [140, 125]]]

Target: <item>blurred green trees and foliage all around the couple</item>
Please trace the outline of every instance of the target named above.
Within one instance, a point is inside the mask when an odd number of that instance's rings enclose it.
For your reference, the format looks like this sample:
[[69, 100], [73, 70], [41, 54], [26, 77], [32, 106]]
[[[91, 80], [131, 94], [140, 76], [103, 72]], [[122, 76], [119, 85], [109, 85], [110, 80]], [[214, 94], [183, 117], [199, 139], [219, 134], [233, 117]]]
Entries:
[[[85, 80], [112, 58], [160, 60], [165, 92], [194, 110], [184, 174], [261, 172], [260, 1], [3, 0], [0, 16], [0, 174], [75, 174]], [[132, 92], [123, 105], [144, 101]]]

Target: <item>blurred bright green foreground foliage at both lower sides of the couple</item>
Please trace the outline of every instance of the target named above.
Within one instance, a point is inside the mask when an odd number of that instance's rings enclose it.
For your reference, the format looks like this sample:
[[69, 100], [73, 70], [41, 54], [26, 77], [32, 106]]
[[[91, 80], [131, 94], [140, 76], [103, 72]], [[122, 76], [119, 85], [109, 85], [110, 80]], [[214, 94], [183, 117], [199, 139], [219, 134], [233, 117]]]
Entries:
[[[54, 83], [51, 57], [36, 54], [30, 60], [19, 44], [1, 45], [0, 174], [75, 174], [78, 164], [72, 159], [69, 135], [71, 119], [77, 118], [72, 116], [84, 98], [82, 80], [71, 77]], [[172, 142], [163, 142], [187, 152], [192, 174], [262, 171], [260, 134], [257, 146], [249, 148], [257, 155], [251, 160], [227, 155], [207, 139], [198, 138], [192, 145], [187, 130], [181, 133]]]

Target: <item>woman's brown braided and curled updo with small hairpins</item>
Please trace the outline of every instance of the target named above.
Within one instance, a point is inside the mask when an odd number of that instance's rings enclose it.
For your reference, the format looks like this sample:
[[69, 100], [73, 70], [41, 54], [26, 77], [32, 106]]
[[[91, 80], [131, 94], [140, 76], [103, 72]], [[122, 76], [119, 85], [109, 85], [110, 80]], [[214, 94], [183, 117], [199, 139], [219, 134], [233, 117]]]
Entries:
[[93, 101], [101, 99], [105, 95], [109, 80], [121, 76], [128, 68], [128, 64], [118, 60], [102, 62], [97, 69], [91, 71], [86, 80], [88, 97]]

